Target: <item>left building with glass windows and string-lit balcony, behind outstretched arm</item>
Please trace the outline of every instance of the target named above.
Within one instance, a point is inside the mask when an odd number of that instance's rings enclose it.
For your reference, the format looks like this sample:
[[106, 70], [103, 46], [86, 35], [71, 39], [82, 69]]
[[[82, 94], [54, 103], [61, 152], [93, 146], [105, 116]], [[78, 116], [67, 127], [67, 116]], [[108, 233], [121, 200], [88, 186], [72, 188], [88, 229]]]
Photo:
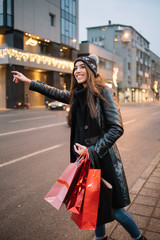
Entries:
[[78, 50], [78, 0], [0, 0], [0, 108], [45, 105], [12, 70], [69, 89]]

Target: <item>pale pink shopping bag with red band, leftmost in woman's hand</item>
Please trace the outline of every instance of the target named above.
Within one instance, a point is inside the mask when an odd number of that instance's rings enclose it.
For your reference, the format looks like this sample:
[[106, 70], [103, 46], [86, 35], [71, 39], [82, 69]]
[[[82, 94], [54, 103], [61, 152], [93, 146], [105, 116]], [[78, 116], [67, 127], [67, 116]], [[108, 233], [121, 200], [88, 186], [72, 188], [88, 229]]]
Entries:
[[79, 156], [75, 163], [70, 163], [60, 178], [56, 181], [44, 199], [56, 209], [60, 209], [64, 203], [66, 196], [69, 197], [71, 189], [76, 186], [79, 174], [82, 170], [84, 162], [87, 158], [86, 152]]

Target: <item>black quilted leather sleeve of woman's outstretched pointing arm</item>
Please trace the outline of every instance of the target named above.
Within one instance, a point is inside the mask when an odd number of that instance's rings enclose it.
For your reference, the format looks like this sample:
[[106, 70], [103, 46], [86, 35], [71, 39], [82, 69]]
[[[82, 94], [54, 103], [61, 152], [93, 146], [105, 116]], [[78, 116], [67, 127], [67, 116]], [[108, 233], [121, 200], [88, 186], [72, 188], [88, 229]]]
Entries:
[[51, 87], [41, 81], [31, 81], [30, 90], [39, 92], [49, 98], [69, 104], [70, 91], [59, 90], [58, 88]]

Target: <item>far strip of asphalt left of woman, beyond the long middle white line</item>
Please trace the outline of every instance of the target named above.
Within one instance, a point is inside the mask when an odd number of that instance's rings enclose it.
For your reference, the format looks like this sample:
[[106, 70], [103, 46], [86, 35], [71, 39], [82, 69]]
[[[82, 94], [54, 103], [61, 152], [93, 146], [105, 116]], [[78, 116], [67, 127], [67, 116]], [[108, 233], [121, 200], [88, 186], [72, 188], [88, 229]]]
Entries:
[[65, 111], [40, 110], [28, 113], [17, 112], [17, 114], [15, 113], [15, 115], [12, 114], [11, 116], [6, 114], [6, 117], [4, 115], [3, 117], [0, 116], [0, 133], [59, 123], [62, 119], [66, 122]]

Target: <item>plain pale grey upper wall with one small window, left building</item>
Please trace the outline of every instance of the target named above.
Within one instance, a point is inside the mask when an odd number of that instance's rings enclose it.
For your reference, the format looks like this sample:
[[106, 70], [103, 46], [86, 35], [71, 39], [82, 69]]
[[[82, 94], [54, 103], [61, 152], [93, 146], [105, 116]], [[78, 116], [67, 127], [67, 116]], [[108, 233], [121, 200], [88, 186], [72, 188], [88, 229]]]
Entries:
[[[49, 13], [56, 16], [55, 26], [49, 24]], [[60, 43], [60, 1], [15, 0], [14, 28]]]

